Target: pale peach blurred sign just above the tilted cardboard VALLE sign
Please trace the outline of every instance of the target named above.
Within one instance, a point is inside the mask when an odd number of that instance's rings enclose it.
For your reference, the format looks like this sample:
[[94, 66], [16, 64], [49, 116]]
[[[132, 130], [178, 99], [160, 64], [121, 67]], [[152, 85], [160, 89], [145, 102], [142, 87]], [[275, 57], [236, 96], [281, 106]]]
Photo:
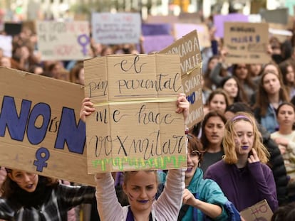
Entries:
[[201, 48], [211, 47], [211, 41], [209, 36], [209, 29], [205, 24], [193, 24], [193, 23], [175, 23], [174, 33], [175, 38], [180, 39], [191, 31], [197, 30], [198, 39]]

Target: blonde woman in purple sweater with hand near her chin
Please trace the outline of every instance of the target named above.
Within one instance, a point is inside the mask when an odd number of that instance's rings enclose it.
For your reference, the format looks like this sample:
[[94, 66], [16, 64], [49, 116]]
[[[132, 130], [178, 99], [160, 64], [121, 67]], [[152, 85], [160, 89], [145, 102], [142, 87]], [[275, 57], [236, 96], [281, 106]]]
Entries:
[[264, 199], [271, 210], [276, 210], [276, 185], [266, 165], [269, 152], [262, 144], [254, 117], [237, 112], [224, 131], [224, 158], [209, 166], [205, 178], [215, 180], [239, 211]]

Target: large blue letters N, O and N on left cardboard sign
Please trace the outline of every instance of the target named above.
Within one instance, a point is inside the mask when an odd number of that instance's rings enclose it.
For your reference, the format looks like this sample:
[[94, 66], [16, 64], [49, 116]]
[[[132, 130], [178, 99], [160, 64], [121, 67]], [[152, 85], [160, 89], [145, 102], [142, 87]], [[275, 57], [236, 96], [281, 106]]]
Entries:
[[[34, 145], [40, 144], [45, 139], [51, 121], [51, 107], [45, 103], [38, 103], [31, 110], [31, 103], [23, 99], [18, 114], [14, 97], [4, 96], [0, 112], [0, 136], [5, 136], [7, 128], [11, 139], [16, 141], [24, 141], [25, 134], [29, 142]], [[36, 126], [38, 117], [43, 119], [41, 126]], [[63, 107], [54, 148], [64, 149], [67, 144], [70, 152], [83, 154], [85, 142], [85, 123], [80, 120], [77, 126], [74, 110]]]

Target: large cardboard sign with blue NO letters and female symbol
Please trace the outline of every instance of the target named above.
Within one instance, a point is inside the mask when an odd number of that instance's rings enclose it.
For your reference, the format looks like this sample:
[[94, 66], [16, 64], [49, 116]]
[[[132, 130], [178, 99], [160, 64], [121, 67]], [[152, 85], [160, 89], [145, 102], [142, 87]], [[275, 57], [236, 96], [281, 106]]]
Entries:
[[0, 165], [95, 185], [87, 173], [83, 88], [0, 68]]

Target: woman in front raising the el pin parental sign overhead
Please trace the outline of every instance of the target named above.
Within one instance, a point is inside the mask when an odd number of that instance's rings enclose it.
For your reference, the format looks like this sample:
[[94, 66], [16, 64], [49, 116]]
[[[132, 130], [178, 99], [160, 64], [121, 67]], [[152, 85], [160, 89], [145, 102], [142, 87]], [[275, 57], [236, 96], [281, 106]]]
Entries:
[[[177, 97], [177, 113], [182, 113], [185, 121], [189, 114], [190, 103], [185, 94]], [[86, 116], [95, 111], [89, 98], [83, 99], [80, 112], [85, 122]], [[160, 198], [157, 193], [157, 171], [128, 171], [124, 173], [123, 191], [128, 197], [129, 206], [122, 207], [115, 194], [115, 185], [111, 173], [95, 175], [96, 200], [100, 220], [116, 221], [165, 221], [177, 220], [185, 189], [185, 170], [171, 169], [167, 173], [165, 188]]]

